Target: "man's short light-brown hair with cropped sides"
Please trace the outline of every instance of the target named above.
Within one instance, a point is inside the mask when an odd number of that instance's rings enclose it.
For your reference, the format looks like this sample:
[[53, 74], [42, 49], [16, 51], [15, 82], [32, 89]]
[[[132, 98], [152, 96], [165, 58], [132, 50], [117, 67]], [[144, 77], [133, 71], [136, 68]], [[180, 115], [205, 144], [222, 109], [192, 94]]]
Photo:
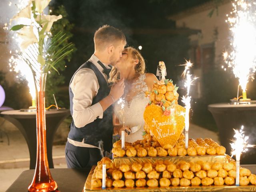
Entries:
[[94, 46], [97, 50], [104, 50], [110, 44], [115, 45], [120, 41], [126, 44], [124, 33], [109, 25], [98, 28], [94, 34]]

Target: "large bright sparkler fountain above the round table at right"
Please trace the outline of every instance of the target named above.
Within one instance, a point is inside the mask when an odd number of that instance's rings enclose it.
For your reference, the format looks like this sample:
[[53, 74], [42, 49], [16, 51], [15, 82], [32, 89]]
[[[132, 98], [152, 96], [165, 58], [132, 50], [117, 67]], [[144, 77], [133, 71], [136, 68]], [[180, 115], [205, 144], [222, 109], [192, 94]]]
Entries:
[[234, 0], [232, 6], [226, 20], [230, 24], [232, 51], [230, 54], [225, 52], [223, 56], [239, 80], [243, 100], [247, 101], [246, 85], [249, 79], [254, 80], [256, 72], [256, 2]]

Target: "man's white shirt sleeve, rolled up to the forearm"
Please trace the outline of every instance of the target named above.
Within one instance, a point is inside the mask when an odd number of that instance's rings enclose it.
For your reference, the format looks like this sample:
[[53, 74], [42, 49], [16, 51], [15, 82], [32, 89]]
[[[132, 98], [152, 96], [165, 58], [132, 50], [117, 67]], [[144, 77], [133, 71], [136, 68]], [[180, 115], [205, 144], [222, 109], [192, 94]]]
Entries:
[[72, 118], [77, 128], [84, 127], [96, 118], [103, 117], [100, 103], [92, 105], [92, 99], [98, 93], [99, 84], [91, 69], [84, 68], [78, 71], [70, 84], [70, 88], [74, 94]]

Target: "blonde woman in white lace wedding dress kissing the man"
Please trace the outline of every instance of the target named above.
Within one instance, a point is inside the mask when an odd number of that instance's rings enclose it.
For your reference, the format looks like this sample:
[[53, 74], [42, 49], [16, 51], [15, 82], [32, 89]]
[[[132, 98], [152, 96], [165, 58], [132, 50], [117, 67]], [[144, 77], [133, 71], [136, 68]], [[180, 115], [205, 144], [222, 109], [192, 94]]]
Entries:
[[[145, 62], [138, 50], [127, 47], [122, 51], [122, 58], [110, 72], [109, 82], [124, 79], [124, 102], [114, 105], [114, 135], [121, 135], [122, 130], [131, 131], [136, 126], [137, 131], [126, 133], [126, 142], [135, 142], [143, 139], [144, 119], [143, 113], [149, 99], [145, 91], [151, 91], [154, 82], [158, 81], [152, 73], [145, 73]], [[124, 125], [124, 126], [123, 126]], [[139, 128], [139, 130], [138, 130]], [[133, 130], [133, 129], [132, 129]]]

